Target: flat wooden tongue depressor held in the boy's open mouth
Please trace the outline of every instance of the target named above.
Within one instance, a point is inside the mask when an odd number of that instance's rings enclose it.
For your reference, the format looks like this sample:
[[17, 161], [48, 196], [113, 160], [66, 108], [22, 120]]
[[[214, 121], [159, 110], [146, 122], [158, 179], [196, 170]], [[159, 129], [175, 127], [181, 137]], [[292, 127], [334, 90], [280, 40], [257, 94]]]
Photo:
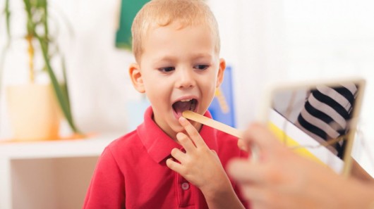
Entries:
[[[200, 115], [190, 110], [183, 111], [182, 115], [184, 118], [187, 118], [189, 120], [200, 122], [203, 125], [210, 126], [227, 134], [231, 134], [234, 137], [238, 137], [239, 139], [243, 139], [243, 132], [241, 132], [239, 129], [235, 129], [234, 127], [226, 125], [222, 122], [218, 122], [217, 120], [207, 118], [204, 115]], [[257, 146], [251, 146], [252, 161], [258, 161], [258, 152], [259, 151]]]

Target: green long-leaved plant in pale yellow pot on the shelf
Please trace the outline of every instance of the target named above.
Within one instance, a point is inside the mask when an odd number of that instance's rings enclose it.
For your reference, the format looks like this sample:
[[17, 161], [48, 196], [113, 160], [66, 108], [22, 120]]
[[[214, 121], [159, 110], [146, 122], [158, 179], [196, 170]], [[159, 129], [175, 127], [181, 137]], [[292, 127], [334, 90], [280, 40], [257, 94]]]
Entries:
[[[8, 39], [6, 48], [11, 46], [13, 39], [9, 2], [5, 0], [4, 6]], [[47, 0], [23, 0], [23, 4], [27, 20], [25, 25], [27, 30], [23, 38], [28, 44], [25, 52], [28, 53], [30, 79], [27, 84], [6, 89], [13, 137], [27, 140], [56, 139], [59, 137], [59, 115], [64, 115], [73, 133], [80, 134], [71, 113], [64, 56], [59, 53], [56, 37], [49, 32], [48, 2]], [[3, 58], [5, 53], [6, 50]], [[40, 53], [42, 69], [35, 69], [35, 53]], [[56, 69], [51, 62], [56, 56], [61, 58], [62, 76], [60, 79], [57, 78]], [[48, 84], [38, 84], [35, 81], [39, 73], [47, 74]], [[58, 108], [55, 108], [56, 106]], [[44, 134], [36, 133], [36, 136], [30, 136], [35, 131], [44, 132]]]

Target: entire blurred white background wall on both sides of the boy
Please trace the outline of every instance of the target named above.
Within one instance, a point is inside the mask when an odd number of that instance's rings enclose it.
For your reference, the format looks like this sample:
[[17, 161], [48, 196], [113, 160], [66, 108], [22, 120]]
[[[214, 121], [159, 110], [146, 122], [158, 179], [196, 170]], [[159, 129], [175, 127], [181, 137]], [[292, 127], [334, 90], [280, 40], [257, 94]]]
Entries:
[[[5, 0], [0, 0], [4, 10]], [[71, 105], [83, 132], [123, 132], [143, 118], [145, 99], [131, 85], [131, 51], [116, 47], [121, 1], [50, 0]], [[374, 175], [374, 1], [210, 0], [219, 23], [221, 56], [231, 66], [235, 124], [255, 120], [267, 84], [363, 77], [367, 81], [354, 158]], [[23, 2], [11, 0], [14, 37], [0, 80], [0, 139], [11, 138], [4, 88], [23, 82], [28, 68]], [[6, 45], [0, 16], [0, 47]], [[67, 23], [67, 24], [66, 24]], [[3, 53], [0, 51], [0, 53]], [[0, 55], [1, 56], [1, 55]]]

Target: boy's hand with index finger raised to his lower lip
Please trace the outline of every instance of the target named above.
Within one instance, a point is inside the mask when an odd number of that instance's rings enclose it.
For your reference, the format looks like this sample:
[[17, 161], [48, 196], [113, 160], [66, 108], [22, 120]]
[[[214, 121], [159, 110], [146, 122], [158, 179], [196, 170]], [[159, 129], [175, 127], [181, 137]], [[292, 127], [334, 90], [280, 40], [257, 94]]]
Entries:
[[176, 138], [186, 152], [184, 153], [178, 148], [171, 150], [171, 156], [180, 163], [168, 159], [167, 166], [197, 186], [205, 198], [206, 195], [215, 196], [217, 192], [230, 188], [231, 183], [217, 153], [210, 150], [198, 131], [186, 118], [179, 118], [179, 122], [186, 129], [188, 135], [179, 132], [176, 134]]

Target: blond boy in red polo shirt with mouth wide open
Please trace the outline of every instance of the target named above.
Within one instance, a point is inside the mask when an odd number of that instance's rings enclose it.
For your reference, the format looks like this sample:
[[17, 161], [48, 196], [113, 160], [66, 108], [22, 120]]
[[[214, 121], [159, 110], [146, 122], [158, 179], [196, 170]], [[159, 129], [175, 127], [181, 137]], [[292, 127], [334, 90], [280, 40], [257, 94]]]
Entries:
[[203, 1], [154, 0], [136, 15], [132, 34], [129, 73], [151, 107], [142, 125], [105, 148], [84, 208], [243, 208], [223, 169], [246, 156], [237, 139], [181, 117], [183, 110], [211, 117], [223, 80], [214, 15]]

